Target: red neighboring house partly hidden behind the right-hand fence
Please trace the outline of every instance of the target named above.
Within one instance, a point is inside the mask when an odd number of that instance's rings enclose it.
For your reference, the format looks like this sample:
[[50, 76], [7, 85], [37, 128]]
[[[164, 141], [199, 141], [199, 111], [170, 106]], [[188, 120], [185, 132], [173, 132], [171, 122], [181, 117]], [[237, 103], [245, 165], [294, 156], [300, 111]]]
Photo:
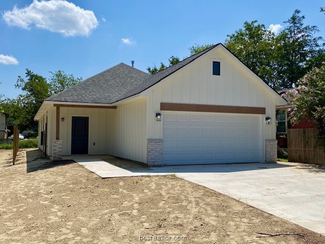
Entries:
[[[279, 95], [286, 94], [292, 89], [280, 90]], [[279, 147], [287, 147], [286, 131], [287, 129], [314, 129], [317, 128], [314, 126], [313, 121], [307, 119], [302, 119], [297, 125], [292, 125], [288, 120], [288, 108], [292, 108], [291, 100], [288, 99], [286, 105], [276, 106], [276, 121], [277, 121], [277, 140]]]

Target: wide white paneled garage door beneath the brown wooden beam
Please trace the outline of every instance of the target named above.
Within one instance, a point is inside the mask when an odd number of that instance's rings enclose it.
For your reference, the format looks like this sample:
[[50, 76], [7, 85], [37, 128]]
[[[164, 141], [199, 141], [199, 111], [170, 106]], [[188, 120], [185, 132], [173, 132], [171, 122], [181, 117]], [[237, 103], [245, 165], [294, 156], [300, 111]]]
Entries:
[[262, 161], [262, 115], [164, 112], [164, 165]]

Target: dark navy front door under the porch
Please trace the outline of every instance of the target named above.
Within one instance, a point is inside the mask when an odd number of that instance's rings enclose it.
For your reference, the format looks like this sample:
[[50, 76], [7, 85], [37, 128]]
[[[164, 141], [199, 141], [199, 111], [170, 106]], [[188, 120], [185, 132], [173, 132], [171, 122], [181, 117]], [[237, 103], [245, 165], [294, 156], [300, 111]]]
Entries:
[[88, 154], [88, 117], [72, 117], [71, 154]]

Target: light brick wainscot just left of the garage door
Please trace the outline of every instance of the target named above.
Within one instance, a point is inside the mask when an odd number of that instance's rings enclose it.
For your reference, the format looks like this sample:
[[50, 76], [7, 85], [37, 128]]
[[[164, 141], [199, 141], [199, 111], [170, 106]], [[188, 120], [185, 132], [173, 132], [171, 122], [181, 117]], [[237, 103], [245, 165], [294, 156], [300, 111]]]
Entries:
[[147, 164], [150, 167], [163, 166], [163, 140], [147, 139]]

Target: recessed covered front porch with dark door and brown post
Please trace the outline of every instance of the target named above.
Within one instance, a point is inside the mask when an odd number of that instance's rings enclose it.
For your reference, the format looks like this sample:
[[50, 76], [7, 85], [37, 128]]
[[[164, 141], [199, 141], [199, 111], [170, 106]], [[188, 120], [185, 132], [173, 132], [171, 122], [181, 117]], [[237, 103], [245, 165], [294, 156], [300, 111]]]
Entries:
[[132, 104], [45, 101], [39, 147], [51, 160], [71, 155], [113, 155], [146, 162], [146, 100]]

